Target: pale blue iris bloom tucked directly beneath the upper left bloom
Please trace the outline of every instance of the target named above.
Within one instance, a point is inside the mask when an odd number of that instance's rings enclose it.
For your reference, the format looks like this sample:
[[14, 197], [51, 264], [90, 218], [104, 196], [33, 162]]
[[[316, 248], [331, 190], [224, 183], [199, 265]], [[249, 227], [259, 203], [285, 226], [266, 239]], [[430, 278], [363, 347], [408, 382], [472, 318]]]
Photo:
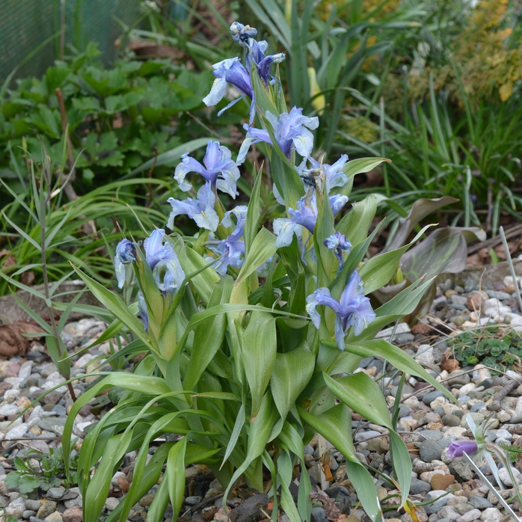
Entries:
[[174, 229], [174, 218], [181, 214], [186, 214], [193, 219], [199, 228], [204, 228], [215, 232], [218, 228], [219, 217], [214, 204], [216, 203], [216, 195], [213, 193], [210, 183], [205, 183], [197, 191], [196, 198], [186, 198], [183, 201], [170, 197], [167, 199], [172, 206], [172, 211], [167, 221], [167, 227]]

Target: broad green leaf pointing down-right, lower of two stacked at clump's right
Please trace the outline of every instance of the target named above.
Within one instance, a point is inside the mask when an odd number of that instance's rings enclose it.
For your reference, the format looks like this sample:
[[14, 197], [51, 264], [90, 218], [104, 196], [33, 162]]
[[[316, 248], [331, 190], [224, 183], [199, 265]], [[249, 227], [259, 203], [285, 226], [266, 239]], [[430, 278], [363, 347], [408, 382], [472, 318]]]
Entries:
[[347, 460], [359, 462], [355, 456], [352, 441], [352, 417], [344, 404], [338, 404], [329, 410], [316, 415], [298, 406], [301, 419], [323, 435]]

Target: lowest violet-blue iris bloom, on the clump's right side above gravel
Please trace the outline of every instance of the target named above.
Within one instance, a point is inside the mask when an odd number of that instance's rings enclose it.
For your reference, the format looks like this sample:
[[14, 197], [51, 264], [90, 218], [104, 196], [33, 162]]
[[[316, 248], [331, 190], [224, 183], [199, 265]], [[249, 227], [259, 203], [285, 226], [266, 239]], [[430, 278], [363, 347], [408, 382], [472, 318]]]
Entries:
[[375, 319], [370, 299], [365, 297], [363, 292], [361, 276], [354, 271], [339, 301], [330, 295], [328, 288], [318, 288], [306, 298], [306, 311], [317, 329], [321, 325], [317, 306], [329, 306], [336, 313], [335, 339], [339, 350], [345, 349], [346, 331], [350, 326], [353, 328], [353, 333], [359, 335]]

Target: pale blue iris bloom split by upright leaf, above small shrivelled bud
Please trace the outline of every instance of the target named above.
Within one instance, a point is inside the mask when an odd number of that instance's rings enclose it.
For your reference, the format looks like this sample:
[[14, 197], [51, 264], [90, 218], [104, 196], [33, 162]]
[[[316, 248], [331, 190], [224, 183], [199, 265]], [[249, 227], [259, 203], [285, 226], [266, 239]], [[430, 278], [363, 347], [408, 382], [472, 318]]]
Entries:
[[[335, 195], [329, 198], [331, 211], [334, 216], [348, 202], [348, 196]], [[303, 227], [314, 233], [317, 222], [317, 199], [315, 192], [311, 196], [303, 196], [296, 204], [296, 208], [289, 208], [289, 218], [277, 218], [274, 220], [274, 233], [277, 235], [276, 246], [289, 246], [295, 234], [299, 242], [302, 242]]]

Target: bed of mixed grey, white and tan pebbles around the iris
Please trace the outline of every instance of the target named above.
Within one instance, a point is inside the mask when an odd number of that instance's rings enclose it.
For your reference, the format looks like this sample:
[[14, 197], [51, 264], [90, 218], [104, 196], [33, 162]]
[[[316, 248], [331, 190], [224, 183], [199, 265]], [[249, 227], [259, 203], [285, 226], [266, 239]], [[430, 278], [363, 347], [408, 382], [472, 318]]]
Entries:
[[[448, 446], [454, 439], [472, 438], [466, 421], [467, 414], [470, 414], [477, 424], [489, 419], [490, 442], [522, 447], [522, 376], [513, 370], [492, 372], [482, 364], [459, 367], [450, 356], [450, 346], [453, 336], [465, 330], [485, 328], [491, 323], [506, 325], [506, 328], [522, 333], [522, 313], [516, 299], [517, 283], [522, 284], [522, 280], [514, 282], [506, 277], [480, 289], [472, 279], [466, 280], [464, 287], [454, 286], [448, 279], [437, 287], [430, 313], [419, 324], [411, 330], [407, 325], [400, 324], [394, 332], [388, 329], [381, 333], [384, 338], [394, 333], [392, 341], [416, 357], [458, 399], [458, 404], [454, 404], [438, 390], [427, 388], [425, 383], [411, 376], [408, 376], [403, 389], [398, 426], [399, 431], [404, 432], [402, 436], [413, 458], [410, 499], [425, 503], [416, 511], [420, 522], [508, 520], [496, 497], [469, 465], [462, 458], [448, 458]], [[90, 318], [69, 323], [64, 331], [67, 348], [77, 351], [89, 345], [104, 327], [100, 321]], [[73, 359], [73, 375], [94, 370], [98, 361], [108, 353], [109, 346], [102, 345]], [[399, 377], [393, 373], [386, 373], [383, 377], [383, 370], [389, 371], [389, 366], [385, 369], [378, 359], [366, 358], [361, 363], [361, 371], [375, 379], [386, 379], [386, 400], [392, 406], [396, 400]], [[79, 379], [74, 384], [75, 393], [84, 393], [94, 378]], [[48, 491], [40, 488], [22, 495], [17, 490], [9, 490], [5, 484], [7, 474], [14, 470], [13, 461], [18, 454], [23, 456], [28, 448], [45, 453], [60, 446], [60, 435], [72, 406], [66, 386], [43, 397], [20, 418], [17, 416], [45, 390], [63, 382], [64, 379], [55, 371], [38, 342], [33, 343], [26, 355], [0, 361], [0, 522], [7, 520], [7, 517], [32, 522], [82, 520], [78, 488], [65, 488], [57, 484]], [[94, 404], [80, 410], [73, 430], [80, 442], [86, 435], [87, 426], [100, 418], [104, 407], [103, 404]], [[356, 416], [352, 429], [359, 458], [378, 470], [389, 472], [386, 430], [361, 422]], [[359, 508], [357, 496], [346, 478], [344, 458], [326, 444], [329, 466], [324, 466], [322, 462], [325, 459], [319, 455], [320, 446], [324, 447], [324, 441], [314, 438], [305, 448], [306, 471], [314, 487], [313, 520], [367, 522], [369, 518]], [[134, 459], [134, 453], [128, 454], [123, 467], [113, 477], [110, 497], [105, 503], [107, 513], [115, 509], [127, 491], [132, 481]], [[484, 461], [479, 458], [477, 462], [483, 473], [487, 476], [491, 474]], [[328, 478], [331, 480], [327, 480], [325, 475], [328, 467], [331, 472]], [[192, 466], [185, 470], [185, 474], [186, 498], [180, 520], [225, 521], [230, 517], [232, 522], [249, 522], [266, 519], [265, 513], [270, 509], [266, 495], [238, 490], [238, 496], [230, 499], [228, 513], [225, 513], [221, 507], [222, 489], [207, 468]], [[514, 489], [506, 470], [501, 469], [501, 478], [506, 484], [502, 494], [506, 499], [511, 499]], [[522, 474], [516, 474], [516, 480], [522, 483]], [[134, 506], [129, 520], [141, 522], [147, 519], [147, 508], [155, 488]], [[292, 484], [290, 490], [296, 499], [297, 486]], [[389, 496], [393, 493], [393, 490], [379, 488], [381, 499], [389, 497], [383, 500], [385, 517], [390, 521], [414, 520], [404, 509], [397, 511], [393, 508], [397, 502], [397, 497]], [[513, 507], [520, 512], [517, 501]], [[172, 517], [172, 511], [168, 511], [164, 519], [171, 521]], [[282, 516], [281, 520], [288, 519]]]

